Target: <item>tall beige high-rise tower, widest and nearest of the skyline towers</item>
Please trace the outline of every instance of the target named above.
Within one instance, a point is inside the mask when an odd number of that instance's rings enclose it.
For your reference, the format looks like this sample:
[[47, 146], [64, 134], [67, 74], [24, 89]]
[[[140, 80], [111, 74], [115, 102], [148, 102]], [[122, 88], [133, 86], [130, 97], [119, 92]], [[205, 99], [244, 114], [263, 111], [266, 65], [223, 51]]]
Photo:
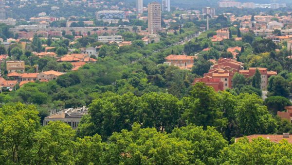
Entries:
[[161, 4], [152, 2], [148, 4], [148, 32], [161, 31]]

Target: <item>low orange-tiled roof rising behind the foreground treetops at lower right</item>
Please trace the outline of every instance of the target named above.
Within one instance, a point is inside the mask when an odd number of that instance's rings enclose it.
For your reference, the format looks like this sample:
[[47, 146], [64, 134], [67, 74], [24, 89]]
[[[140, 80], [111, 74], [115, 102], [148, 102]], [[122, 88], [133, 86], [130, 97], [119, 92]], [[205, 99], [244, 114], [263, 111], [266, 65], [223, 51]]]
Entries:
[[[271, 142], [274, 143], [280, 143], [281, 140], [286, 139], [288, 141], [288, 143], [292, 143], [292, 136], [290, 136], [289, 133], [283, 133], [281, 134], [253, 134], [253, 135], [249, 135], [249, 136], [245, 136], [249, 142], [252, 142], [253, 139], [256, 139], [258, 137], [262, 137], [264, 139], [268, 139]], [[238, 142], [238, 140], [242, 139], [244, 137], [238, 137], [235, 139], [235, 143]]]

